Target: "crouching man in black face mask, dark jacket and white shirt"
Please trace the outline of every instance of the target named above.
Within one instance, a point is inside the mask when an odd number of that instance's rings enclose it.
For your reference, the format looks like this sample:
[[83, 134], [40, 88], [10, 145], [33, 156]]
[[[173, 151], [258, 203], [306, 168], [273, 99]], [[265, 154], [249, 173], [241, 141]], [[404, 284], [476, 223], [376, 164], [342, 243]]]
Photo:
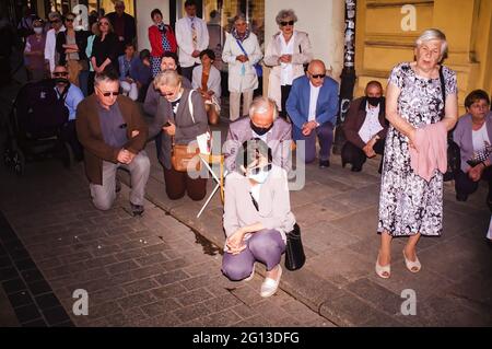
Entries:
[[[367, 158], [383, 155], [387, 130], [383, 86], [378, 81], [370, 81], [365, 96], [350, 104], [343, 124], [347, 142], [341, 151], [342, 166], [350, 163], [353, 172], [360, 172]], [[379, 173], [380, 170], [379, 165]]]

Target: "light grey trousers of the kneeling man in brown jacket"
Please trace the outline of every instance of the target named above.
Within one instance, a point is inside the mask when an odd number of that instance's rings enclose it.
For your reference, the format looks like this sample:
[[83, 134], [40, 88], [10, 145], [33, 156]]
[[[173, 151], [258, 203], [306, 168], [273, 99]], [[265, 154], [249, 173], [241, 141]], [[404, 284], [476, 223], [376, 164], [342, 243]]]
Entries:
[[99, 210], [109, 210], [116, 199], [116, 170], [119, 167], [130, 171], [130, 202], [133, 205], [143, 205], [145, 185], [150, 174], [150, 160], [144, 150], [139, 152], [129, 165], [103, 161], [103, 184], [91, 183], [89, 185], [92, 202]]

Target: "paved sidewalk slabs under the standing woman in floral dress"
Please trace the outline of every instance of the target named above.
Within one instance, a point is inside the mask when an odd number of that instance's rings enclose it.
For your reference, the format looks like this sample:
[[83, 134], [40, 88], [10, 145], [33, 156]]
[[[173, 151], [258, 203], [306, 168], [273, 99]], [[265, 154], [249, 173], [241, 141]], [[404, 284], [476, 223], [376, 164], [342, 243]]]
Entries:
[[[225, 136], [226, 125], [221, 124], [220, 130]], [[203, 202], [168, 200], [154, 144], [147, 150], [152, 161], [148, 198], [223, 246], [219, 195], [197, 219]], [[307, 263], [298, 271], [285, 271], [281, 288], [339, 326], [491, 326], [492, 251], [484, 243], [490, 220], [485, 188], [469, 201], [457, 202], [453, 184], [446, 183], [444, 234], [419, 243], [421, 272], [406, 269], [401, 254], [406, 240], [396, 239], [391, 278], [383, 280], [374, 272], [379, 244], [379, 159], [368, 161], [362, 173], [342, 168], [339, 155], [332, 155], [329, 168], [306, 167], [306, 185], [291, 193], [291, 203]], [[210, 179], [209, 193], [211, 188]], [[405, 290], [415, 292], [414, 316], [401, 314]]]

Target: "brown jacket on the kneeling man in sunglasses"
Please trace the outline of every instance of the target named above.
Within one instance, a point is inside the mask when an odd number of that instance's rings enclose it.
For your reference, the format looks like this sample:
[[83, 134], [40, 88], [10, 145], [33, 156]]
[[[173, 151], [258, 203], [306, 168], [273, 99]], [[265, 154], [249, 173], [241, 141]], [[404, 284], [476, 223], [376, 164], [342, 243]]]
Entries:
[[[97, 112], [97, 97], [90, 95], [77, 107], [75, 128], [79, 141], [84, 147], [85, 174], [92, 184], [103, 184], [103, 160], [117, 163], [117, 156], [121, 149], [113, 148], [105, 143]], [[127, 137], [129, 141], [122, 147], [133, 154], [144, 149], [148, 127], [143, 120], [138, 105], [130, 98], [118, 95], [116, 103], [119, 105], [122, 118], [127, 124]], [[131, 131], [139, 131], [137, 137], [131, 137]]]

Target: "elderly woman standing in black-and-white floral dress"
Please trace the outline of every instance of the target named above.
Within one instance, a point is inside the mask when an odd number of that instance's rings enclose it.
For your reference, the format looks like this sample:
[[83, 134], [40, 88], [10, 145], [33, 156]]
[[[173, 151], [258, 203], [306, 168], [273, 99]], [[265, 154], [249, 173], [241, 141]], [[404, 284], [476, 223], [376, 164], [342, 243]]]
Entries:
[[390, 127], [383, 164], [377, 228], [380, 249], [376, 260], [376, 274], [384, 279], [390, 277], [394, 236], [409, 237], [405, 263], [407, 269], [418, 272], [421, 264], [415, 247], [420, 236], [442, 233], [443, 174], [434, 171], [430, 182], [420, 177], [410, 165], [409, 148], [415, 146], [418, 128], [443, 123], [449, 131], [458, 117], [456, 73], [440, 65], [447, 51], [446, 36], [438, 30], [427, 30], [415, 44], [415, 61], [393, 69], [386, 94]]

